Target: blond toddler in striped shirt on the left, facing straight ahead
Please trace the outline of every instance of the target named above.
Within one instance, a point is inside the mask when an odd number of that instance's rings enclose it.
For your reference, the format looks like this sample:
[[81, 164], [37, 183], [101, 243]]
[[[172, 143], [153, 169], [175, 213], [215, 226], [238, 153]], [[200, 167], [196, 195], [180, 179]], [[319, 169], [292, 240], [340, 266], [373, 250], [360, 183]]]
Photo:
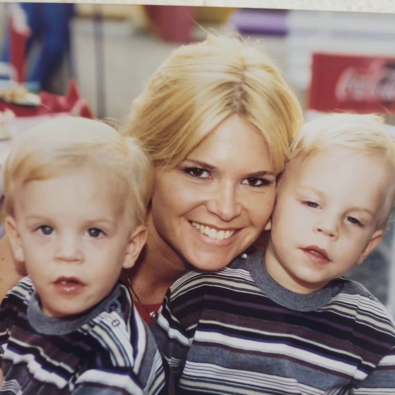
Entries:
[[159, 351], [118, 283], [146, 240], [144, 151], [102, 122], [61, 117], [15, 141], [4, 183], [29, 276], [0, 306], [0, 393], [165, 393]]

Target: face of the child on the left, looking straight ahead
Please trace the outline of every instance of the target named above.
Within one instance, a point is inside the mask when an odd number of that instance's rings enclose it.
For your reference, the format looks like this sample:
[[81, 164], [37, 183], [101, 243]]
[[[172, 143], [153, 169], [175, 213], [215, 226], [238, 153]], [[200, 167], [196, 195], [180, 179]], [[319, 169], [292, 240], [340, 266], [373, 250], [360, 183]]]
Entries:
[[7, 232], [43, 312], [52, 317], [100, 302], [117, 281], [126, 253], [138, 253], [144, 244], [145, 231], [133, 238], [122, 204], [103, 180], [84, 167], [29, 182], [16, 193], [15, 221], [8, 220]]

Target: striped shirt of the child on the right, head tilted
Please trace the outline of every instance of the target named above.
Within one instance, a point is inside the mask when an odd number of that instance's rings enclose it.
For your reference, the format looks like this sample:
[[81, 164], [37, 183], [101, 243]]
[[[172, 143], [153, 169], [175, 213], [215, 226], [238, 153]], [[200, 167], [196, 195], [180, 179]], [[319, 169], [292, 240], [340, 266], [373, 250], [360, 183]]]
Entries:
[[345, 278], [287, 290], [263, 252], [186, 273], [151, 329], [177, 394], [395, 394], [395, 324], [384, 306]]

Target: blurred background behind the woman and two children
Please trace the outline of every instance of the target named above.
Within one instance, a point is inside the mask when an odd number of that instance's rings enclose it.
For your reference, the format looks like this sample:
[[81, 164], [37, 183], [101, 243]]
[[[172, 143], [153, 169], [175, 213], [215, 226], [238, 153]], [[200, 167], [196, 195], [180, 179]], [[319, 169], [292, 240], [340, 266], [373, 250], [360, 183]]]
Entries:
[[[21, 13], [16, 5], [0, 3], [0, 81], [25, 83], [42, 104], [51, 103], [48, 112], [69, 106], [67, 111], [117, 124], [172, 49], [210, 31], [239, 32], [259, 39], [274, 58], [306, 119], [334, 110], [379, 111], [386, 114], [389, 132], [395, 129], [393, 14], [109, 4]], [[15, 108], [16, 118], [19, 112], [35, 115]], [[395, 315], [392, 222], [381, 247], [348, 277], [362, 282]]]

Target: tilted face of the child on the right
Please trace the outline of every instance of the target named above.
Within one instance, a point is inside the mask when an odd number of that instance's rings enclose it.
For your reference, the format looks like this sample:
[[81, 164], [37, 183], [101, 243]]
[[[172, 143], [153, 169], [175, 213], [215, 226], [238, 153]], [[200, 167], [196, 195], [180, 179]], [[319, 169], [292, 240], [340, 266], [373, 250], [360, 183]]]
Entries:
[[291, 165], [272, 215], [267, 270], [284, 287], [309, 293], [362, 263], [381, 241], [384, 201], [379, 157], [348, 149]]

